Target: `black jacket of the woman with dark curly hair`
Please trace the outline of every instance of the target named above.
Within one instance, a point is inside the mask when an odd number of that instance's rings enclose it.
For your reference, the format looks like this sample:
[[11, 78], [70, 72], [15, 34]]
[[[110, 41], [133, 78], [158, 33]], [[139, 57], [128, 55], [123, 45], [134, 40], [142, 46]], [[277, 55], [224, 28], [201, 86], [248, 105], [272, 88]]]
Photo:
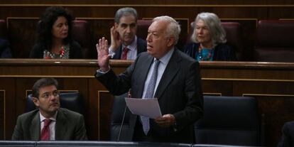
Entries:
[[[44, 44], [36, 43], [30, 53], [30, 58], [43, 58], [43, 51], [47, 50]], [[70, 59], [82, 59], [82, 47], [76, 41], [70, 43]]]

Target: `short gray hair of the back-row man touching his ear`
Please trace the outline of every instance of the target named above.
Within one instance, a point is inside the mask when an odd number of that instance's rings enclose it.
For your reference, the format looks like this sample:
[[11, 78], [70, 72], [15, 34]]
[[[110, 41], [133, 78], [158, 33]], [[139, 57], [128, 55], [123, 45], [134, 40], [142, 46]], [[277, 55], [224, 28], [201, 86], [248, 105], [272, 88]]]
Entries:
[[131, 7], [124, 7], [116, 11], [115, 16], [114, 16], [114, 22], [119, 24], [119, 20], [121, 19], [122, 16], [134, 16], [136, 19], [136, 22], [138, 20], [138, 13], [136, 9], [131, 8]]

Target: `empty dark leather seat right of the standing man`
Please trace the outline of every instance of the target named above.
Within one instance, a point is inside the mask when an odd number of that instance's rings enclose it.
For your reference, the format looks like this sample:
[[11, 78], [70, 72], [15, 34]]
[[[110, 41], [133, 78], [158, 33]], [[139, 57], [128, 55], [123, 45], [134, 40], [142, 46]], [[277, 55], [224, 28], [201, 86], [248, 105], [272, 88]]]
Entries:
[[195, 139], [197, 144], [261, 146], [260, 130], [254, 97], [205, 96]]

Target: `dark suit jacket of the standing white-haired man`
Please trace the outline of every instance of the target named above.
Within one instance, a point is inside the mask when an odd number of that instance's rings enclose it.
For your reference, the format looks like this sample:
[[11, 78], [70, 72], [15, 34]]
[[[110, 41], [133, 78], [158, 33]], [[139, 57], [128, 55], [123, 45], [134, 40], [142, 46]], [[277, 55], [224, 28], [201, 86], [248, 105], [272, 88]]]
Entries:
[[[124, 94], [131, 88], [132, 97], [142, 97], [143, 87], [153, 57], [147, 52], [141, 53], [125, 72], [116, 76], [112, 70], [96, 78], [114, 95]], [[203, 97], [200, 84], [199, 63], [175, 49], [156, 89], [162, 114], [173, 114], [176, 119], [175, 131], [172, 126], [160, 127], [150, 119], [150, 131], [162, 142], [192, 143], [194, 141], [193, 124], [203, 113]], [[122, 112], [123, 113], [123, 112]], [[126, 141], [132, 141], [137, 115], [131, 114]]]

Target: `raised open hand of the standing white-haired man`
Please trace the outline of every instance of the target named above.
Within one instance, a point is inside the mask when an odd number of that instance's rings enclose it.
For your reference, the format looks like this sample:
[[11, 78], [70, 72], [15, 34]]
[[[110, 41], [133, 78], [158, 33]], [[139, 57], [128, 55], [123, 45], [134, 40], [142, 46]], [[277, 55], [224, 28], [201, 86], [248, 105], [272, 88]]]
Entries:
[[107, 72], [109, 70], [109, 58], [111, 55], [109, 55], [107, 40], [104, 37], [99, 39], [96, 44], [96, 49], [98, 54], [97, 62], [100, 70]]

